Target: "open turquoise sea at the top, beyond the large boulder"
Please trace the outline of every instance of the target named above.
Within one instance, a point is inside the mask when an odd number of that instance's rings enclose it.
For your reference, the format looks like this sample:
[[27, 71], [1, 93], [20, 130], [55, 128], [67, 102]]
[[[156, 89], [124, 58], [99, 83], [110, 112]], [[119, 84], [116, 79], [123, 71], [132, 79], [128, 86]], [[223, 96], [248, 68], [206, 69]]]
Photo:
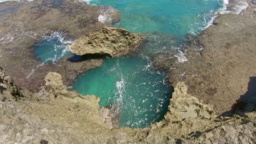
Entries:
[[95, 0], [121, 12], [119, 27], [135, 33], [158, 31], [183, 37], [198, 34], [208, 25], [222, 0]]

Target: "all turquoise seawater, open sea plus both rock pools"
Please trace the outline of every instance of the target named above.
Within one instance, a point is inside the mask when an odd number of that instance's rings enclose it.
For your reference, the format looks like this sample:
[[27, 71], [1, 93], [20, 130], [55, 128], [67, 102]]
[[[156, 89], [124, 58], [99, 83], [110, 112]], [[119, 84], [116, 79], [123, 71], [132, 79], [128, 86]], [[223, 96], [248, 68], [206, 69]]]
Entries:
[[[101, 106], [111, 105], [120, 116], [120, 126], [132, 128], [146, 128], [159, 122], [170, 104], [173, 89], [168, 82], [168, 71], [155, 70], [152, 57], [173, 53], [179, 62], [187, 61], [180, 47], [185, 35], [195, 36], [212, 24], [217, 13], [229, 13], [225, 11], [227, 0], [84, 1], [118, 9], [121, 21], [113, 25], [146, 35], [138, 52], [104, 59], [101, 67], [84, 71], [73, 85], [79, 93], [100, 97]], [[105, 15], [101, 13], [98, 20], [109, 20]], [[34, 54], [43, 63], [55, 63], [63, 56], [73, 55], [67, 49], [73, 40], [64, 38], [63, 32], [43, 37], [34, 45]]]

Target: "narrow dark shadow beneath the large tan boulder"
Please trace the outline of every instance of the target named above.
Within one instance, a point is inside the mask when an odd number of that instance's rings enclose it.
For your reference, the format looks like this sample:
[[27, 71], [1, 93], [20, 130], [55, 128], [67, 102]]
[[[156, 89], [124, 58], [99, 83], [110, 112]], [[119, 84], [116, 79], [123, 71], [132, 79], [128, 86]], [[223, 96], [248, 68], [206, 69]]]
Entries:
[[74, 55], [72, 57], [69, 57], [67, 61], [78, 63], [83, 61], [88, 61], [90, 59], [104, 59], [106, 57], [110, 57], [108, 53], [94, 53], [94, 54], [86, 54], [83, 56]]

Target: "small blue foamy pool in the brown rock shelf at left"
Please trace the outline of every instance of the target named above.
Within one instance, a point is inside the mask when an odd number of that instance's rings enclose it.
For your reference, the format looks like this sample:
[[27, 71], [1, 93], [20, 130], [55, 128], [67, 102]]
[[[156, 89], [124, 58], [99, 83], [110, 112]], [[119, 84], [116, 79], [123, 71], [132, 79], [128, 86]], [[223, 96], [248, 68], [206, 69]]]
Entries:
[[65, 34], [54, 32], [51, 35], [46, 35], [42, 40], [34, 44], [34, 54], [40, 61], [45, 63], [54, 63], [63, 56], [71, 56], [73, 53], [67, 48], [72, 41], [64, 40]]

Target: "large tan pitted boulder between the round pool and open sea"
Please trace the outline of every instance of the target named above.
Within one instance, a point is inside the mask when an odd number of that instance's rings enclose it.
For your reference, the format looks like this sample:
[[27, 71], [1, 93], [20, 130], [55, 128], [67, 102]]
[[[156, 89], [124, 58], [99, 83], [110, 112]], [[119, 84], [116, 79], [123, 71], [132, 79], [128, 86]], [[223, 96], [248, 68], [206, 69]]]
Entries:
[[104, 27], [80, 37], [68, 48], [80, 56], [101, 53], [116, 57], [135, 51], [143, 39], [142, 34], [123, 28]]

